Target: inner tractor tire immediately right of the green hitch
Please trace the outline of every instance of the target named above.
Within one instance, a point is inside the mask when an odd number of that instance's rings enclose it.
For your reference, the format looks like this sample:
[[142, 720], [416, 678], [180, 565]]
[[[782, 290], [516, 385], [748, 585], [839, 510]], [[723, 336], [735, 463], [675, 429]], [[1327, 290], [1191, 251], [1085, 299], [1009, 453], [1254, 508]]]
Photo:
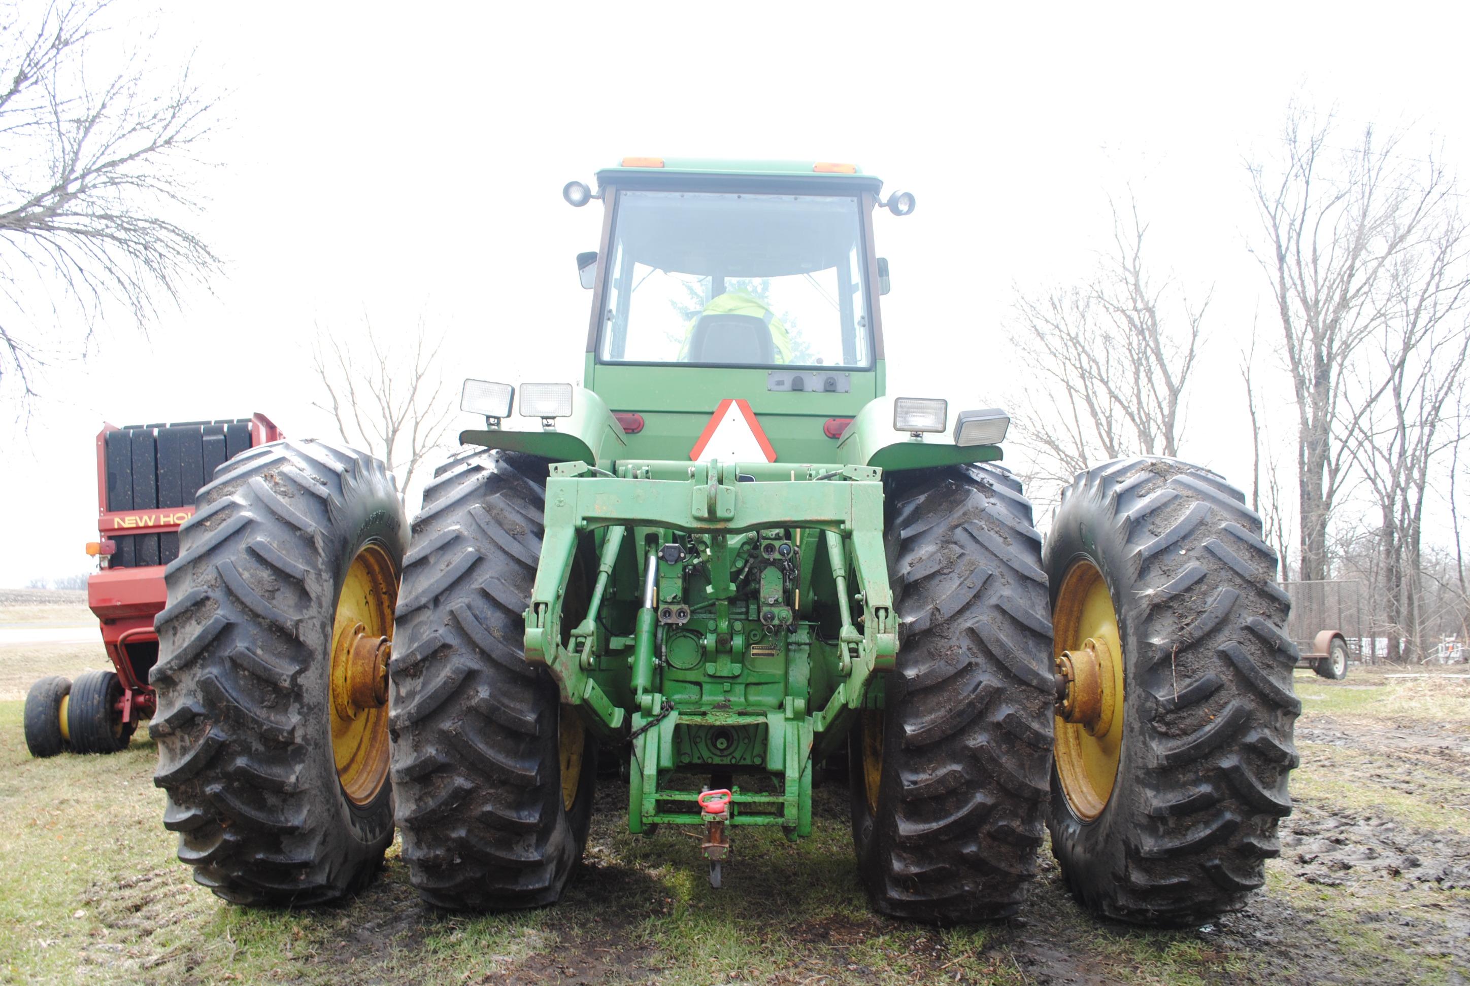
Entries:
[[900, 645], [885, 708], [850, 733], [858, 871], [894, 917], [1004, 917], [1035, 876], [1051, 770], [1041, 538], [1020, 483], [986, 467], [900, 475], [886, 511]]

